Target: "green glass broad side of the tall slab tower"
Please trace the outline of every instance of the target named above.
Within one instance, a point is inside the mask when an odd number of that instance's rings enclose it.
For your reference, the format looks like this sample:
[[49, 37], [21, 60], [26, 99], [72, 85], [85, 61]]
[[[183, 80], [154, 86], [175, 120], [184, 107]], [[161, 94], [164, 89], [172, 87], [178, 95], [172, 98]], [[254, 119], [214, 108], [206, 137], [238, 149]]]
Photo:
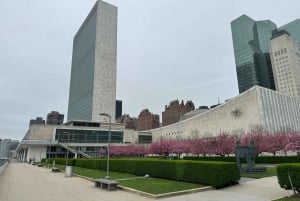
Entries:
[[95, 5], [73, 41], [68, 120], [91, 120], [95, 70]]

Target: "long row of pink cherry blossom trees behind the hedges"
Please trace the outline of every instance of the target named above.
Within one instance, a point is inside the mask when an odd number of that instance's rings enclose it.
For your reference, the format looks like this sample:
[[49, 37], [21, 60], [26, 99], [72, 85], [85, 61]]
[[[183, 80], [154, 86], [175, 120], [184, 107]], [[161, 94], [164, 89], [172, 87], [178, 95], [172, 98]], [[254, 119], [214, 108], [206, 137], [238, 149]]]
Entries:
[[[169, 156], [176, 154], [178, 158], [182, 154], [199, 155], [220, 155], [226, 156], [233, 154], [235, 151], [236, 137], [228, 132], [222, 132], [216, 137], [210, 138], [193, 138], [190, 140], [166, 140], [162, 139], [153, 142], [148, 146], [144, 145], [128, 145], [116, 146], [111, 145], [110, 154], [112, 156], [131, 156], [139, 157], [148, 154]], [[262, 152], [272, 153], [274, 156], [277, 152], [294, 151], [300, 155], [300, 133], [268, 133], [262, 129], [252, 129], [249, 133], [240, 138], [242, 146], [248, 146], [250, 141], [254, 142], [257, 153]], [[106, 149], [100, 149], [99, 153], [104, 156]]]

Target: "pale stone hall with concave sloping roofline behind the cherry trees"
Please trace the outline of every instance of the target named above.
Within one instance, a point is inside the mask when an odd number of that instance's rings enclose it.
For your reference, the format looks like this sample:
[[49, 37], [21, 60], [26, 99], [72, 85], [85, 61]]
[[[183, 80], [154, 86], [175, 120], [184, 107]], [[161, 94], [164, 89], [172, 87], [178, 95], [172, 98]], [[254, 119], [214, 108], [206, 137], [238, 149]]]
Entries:
[[206, 112], [147, 132], [153, 141], [243, 135], [254, 128], [269, 132], [300, 131], [300, 99], [255, 86]]

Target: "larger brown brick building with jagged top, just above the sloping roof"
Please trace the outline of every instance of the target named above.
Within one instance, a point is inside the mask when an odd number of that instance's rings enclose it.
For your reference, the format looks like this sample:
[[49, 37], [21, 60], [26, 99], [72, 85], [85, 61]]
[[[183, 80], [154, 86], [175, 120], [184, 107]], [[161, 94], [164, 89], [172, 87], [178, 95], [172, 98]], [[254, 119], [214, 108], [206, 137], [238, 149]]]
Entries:
[[162, 112], [162, 125], [167, 126], [179, 121], [180, 116], [187, 112], [195, 110], [194, 103], [192, 101], [187, 101], [184, 104], [183, 100], [179, 104], [178, 100], [170, 102], [170, 105], [165, 106], [165, 111]]

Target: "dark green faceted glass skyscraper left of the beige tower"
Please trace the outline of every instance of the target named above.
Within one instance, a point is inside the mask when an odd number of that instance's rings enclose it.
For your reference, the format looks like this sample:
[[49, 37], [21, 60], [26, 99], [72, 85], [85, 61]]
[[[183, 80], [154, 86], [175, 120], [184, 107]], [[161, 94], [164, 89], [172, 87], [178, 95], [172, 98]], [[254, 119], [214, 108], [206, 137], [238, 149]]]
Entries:
[[255, 85], [275, 89], [269, 55], [274, 29], [272, 21], [254, 21], [246, 15], [231, 22], [240, 93]]

